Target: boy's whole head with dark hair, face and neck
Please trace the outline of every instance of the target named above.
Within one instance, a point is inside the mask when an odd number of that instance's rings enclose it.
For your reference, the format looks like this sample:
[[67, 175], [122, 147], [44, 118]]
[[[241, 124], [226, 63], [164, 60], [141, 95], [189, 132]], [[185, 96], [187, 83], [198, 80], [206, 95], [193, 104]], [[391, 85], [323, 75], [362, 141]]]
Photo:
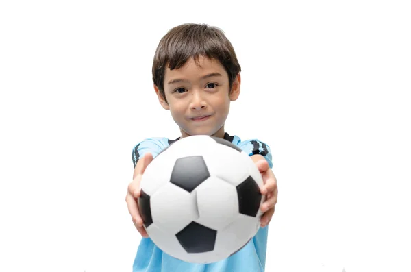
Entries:
[[182, 137], [223, 137], [229, 103], [240, 94], [240, 71], [231, 42], [216, 27], [179, 25], [160, 40], [153, 60], [154, 88]]

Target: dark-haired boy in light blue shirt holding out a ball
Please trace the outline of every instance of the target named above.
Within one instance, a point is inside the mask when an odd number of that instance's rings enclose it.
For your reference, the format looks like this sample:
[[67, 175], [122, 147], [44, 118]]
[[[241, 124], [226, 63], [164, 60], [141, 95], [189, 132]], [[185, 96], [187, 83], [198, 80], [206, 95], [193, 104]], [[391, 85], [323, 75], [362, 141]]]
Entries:
[[[134, 272], [256, 272], [264, 271], [268, 227], [277, 203], [277, 180], [268, 145], [260, 140], [240, 140], [224, 130], [229, 105], [240, 95], [240, 64], [223, 32], [208, 25], [184, 24], [171, 29], [160, 40], [153, 60], [153, 82], [158, 101], [171, 112], [181, 136], [147, 138], [133, 149], [133, 181], [127, 190], [127, 206], [134, 225], [143, 236], [134, 260]], [[245, 247], [225, 260], [192, 264], [177, 260], [154, 245], [142, 227], [137, 198], [140, 178], [147, 165], [164, 148], [184, 137], [206, 134], [229, 140], [245, 152], [260, 169], [264, 180], [261, 193], [261, 228]]]

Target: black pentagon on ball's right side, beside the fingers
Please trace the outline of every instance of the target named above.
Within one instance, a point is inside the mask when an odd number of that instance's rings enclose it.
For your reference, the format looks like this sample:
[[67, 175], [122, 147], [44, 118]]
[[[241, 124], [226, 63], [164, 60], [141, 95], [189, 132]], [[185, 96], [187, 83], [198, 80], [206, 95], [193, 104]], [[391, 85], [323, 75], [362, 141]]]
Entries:
[[250, 176], [237, 186], [238, 206], [240, 214], [256, 217], [261, 203], [261, 192], [257, 183]]

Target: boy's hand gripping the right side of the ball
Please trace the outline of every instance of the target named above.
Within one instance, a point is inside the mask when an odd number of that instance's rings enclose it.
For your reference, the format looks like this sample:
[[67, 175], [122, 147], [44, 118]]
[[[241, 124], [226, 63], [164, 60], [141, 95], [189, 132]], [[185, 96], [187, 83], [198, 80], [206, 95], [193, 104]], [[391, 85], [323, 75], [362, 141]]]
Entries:
[[261, 188], [261, 194], [266, 195], [265, 201], [261, 205], [261, 210], [264, 212], [261, 217], [261, 227], [265, 227], [273, 217], [275, 204], [277, 203], [277, 179], [271, 170], [269, 163], [265, 159], [260, 159], [256, 162], [258, 170], [260, 170], [264, 187]]

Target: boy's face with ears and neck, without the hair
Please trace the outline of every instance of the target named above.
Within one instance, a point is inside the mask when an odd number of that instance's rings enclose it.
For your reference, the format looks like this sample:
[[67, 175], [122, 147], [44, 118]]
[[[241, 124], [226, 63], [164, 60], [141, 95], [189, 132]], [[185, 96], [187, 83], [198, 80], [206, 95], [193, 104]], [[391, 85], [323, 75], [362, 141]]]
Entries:
[[[199, 58], [199, 66], [190, 59], [180, 69], [166, 69], [164, 93], [168, 103], [154, 86], [158, 99], [182, 132], [182, 138], [210, 135], [223, 138], [229, 103], [240, 95], [240, 75], [229, 95], [227, 72], [218, 60]], [[206, 116], [203, 119], [198, 119]]]

